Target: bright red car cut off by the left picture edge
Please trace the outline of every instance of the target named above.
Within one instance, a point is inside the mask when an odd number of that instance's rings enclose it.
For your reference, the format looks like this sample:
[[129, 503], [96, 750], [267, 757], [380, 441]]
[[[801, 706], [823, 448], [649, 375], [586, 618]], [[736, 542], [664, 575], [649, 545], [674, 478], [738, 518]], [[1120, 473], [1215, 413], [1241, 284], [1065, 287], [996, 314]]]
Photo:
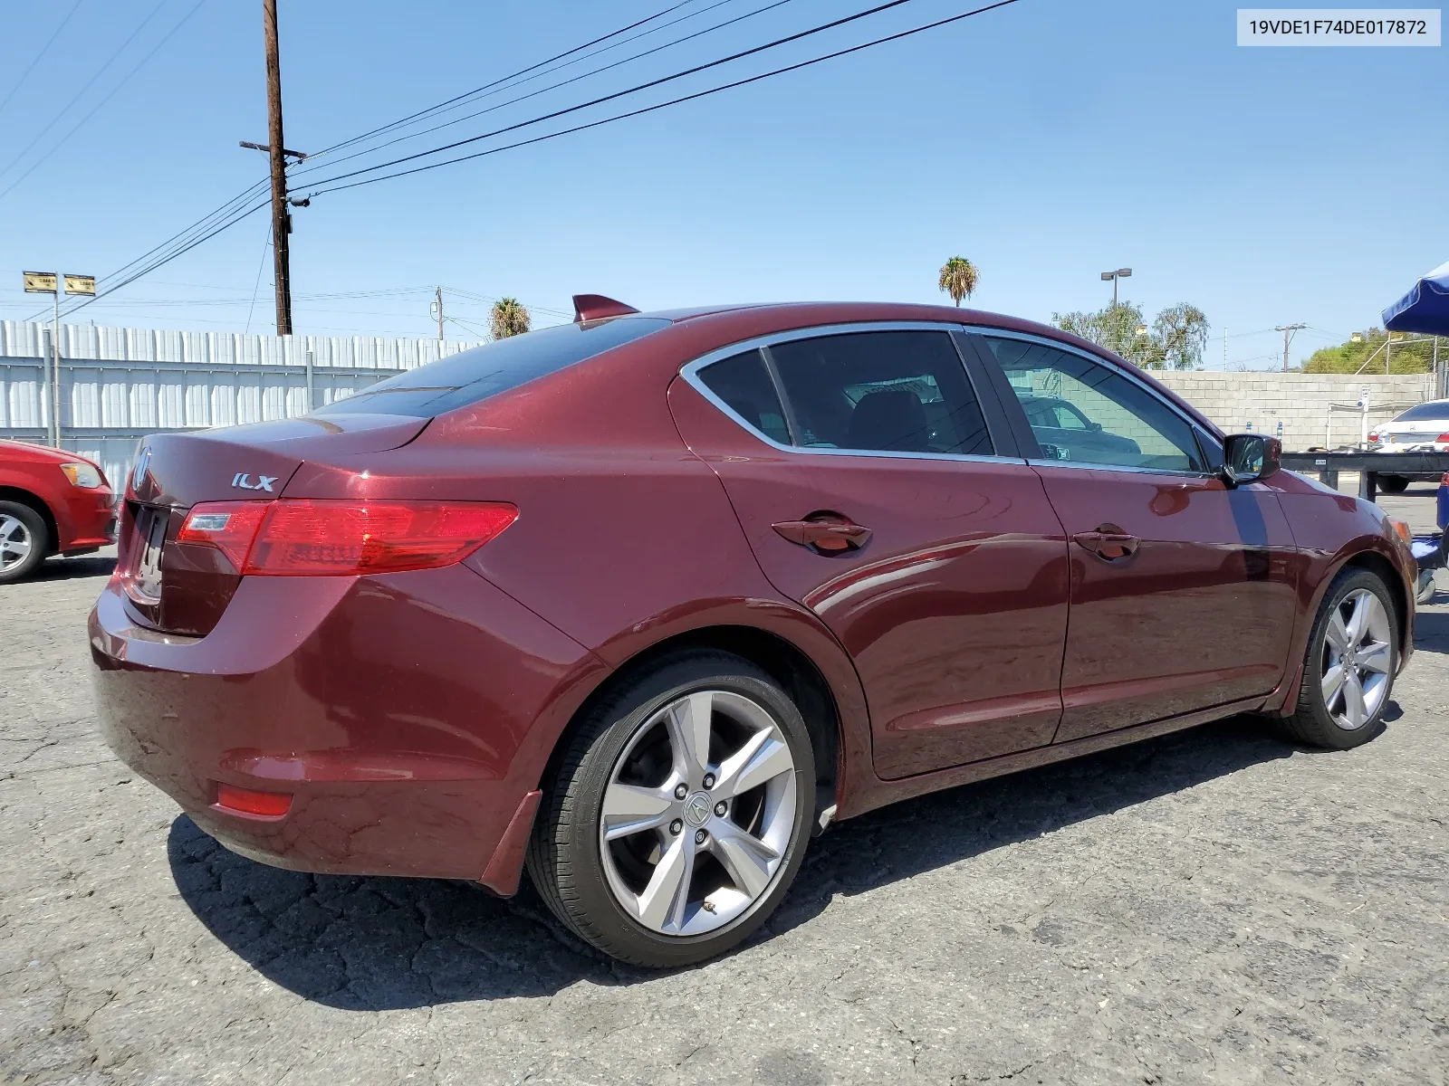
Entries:
[[116, 495], [84, 456], [0, 440], [0, 584], [116, 542]]

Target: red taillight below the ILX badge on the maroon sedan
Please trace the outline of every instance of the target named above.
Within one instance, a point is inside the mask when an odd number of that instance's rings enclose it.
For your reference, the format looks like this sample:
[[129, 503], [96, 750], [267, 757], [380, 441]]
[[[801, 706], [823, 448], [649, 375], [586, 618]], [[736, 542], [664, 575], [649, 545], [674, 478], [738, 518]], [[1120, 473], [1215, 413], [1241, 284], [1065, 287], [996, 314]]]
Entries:
[[517, 520], [497, 501], [209, 501], [178, 543], [220, 550], [246, 576], [358, 576], [461, 562]]

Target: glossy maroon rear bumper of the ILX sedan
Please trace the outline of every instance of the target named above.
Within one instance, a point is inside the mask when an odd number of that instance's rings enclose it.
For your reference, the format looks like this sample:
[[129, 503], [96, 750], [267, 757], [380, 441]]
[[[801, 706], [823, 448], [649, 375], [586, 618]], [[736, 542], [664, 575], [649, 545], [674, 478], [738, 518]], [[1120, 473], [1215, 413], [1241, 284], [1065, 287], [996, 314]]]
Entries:
[[[506, 831], [606, 670], [462, 566], [246, 578], [200, 639], [139, 627], [107, 586], [90, 643], [106, 741], [223, 844], [309, 872], [488, 872], [501, 892]], [[291, 805], [223, 808], [223, 783]]]

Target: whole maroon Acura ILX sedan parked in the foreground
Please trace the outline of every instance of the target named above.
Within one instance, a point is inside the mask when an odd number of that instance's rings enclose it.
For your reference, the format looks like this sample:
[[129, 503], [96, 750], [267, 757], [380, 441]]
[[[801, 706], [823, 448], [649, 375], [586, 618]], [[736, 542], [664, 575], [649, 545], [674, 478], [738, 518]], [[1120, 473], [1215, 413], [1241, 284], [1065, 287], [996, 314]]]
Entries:
[[1407, 530], [1274, 439], [1010, 317], [577, 303], [148, 439], [100, 717], [230, 849], [503, 895], [526, 866], [669, 966], [882, 804], [1240, 712], [1381, 728]]

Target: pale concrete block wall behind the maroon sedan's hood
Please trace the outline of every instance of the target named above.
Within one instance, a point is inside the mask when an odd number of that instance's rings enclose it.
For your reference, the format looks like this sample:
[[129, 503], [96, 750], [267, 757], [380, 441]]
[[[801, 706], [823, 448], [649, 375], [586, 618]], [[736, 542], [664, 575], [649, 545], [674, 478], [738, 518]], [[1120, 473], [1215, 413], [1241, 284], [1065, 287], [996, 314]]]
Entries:
[[[1406, 407], [1432, 400], [1432, 374], [1271, 374], [1211, 369], [1152, 371], [1152, 376], [1181, 395], [1229, 433], [1252, 429], [1278, 434], [1290, 452], [1356, 445], [1362, 413], [1353, 407], [1369, 390], [1369, 427], [1388, 421]], [[1337, 405], [1339, 410], [1333, 410]]]

